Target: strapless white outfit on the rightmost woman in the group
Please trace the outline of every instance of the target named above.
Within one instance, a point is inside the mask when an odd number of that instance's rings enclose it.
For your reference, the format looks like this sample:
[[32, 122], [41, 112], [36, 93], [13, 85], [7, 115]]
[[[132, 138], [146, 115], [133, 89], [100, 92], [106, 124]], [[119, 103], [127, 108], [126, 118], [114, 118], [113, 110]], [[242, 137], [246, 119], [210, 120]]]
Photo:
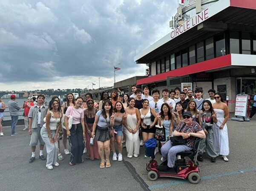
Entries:
[[218, 122], [213, 124], [213, 145], [218, 155], [227, 156], [229, 154], [227, 124], [224, 125], [222, 130], [219, 129], [219, 126], [224, 121], [224, 110], [214, 109], [214, 111]]

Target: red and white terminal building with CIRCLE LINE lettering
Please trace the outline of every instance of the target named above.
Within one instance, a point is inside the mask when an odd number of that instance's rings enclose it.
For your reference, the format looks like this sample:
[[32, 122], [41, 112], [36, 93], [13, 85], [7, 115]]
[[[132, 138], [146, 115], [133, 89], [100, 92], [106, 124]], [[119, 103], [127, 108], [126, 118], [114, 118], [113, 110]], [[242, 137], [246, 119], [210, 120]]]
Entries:
[[[181, 25], [134, 57], [149, 66], [137, 80], [158, 90], [192, 83], [193, 90], [215, 89], [229, 100], [256, 90], [256, 0], [184, 0]], [[191, 17], [191, 15], [194, 15]], [[175, 17], [174, 17], [175, 18]], [[235, 104], [229, 104], [234, 112]]]

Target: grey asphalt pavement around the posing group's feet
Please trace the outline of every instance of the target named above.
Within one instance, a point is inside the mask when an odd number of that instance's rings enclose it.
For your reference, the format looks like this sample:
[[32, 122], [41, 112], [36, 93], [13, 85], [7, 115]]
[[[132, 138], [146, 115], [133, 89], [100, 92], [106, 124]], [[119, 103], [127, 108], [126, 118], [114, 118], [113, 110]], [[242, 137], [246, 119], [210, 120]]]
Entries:
[[[231, 116], [232, 117], [232, 116]], [[231, 119], [231, 118], [230, 118]], [[225, 162], [218, 157], [211, 163], [210, 157], [203, 154], [204, 161], [199, 162], [201, 181], [191, 184], [188, 180], [160, 177], [150, 181], [146, 164], [150, 160], [144, 157], [144, 146], [138, 158], [128, 159], [123, 150], [122, 162], [112, 161], [111, 167], [100, 169], [100, 160], [85, 160], [82, 164], [69, 166], [69, 155], [61, 151], [64, 160], [58, 161], [59, 167], [52, 171], [46, 169], [46, 161], [38, 158], [29, 163], [31, 150], [30, 135], [17, 126], [19, 135], [11, 137], [10, 127], [4, 127], [4, 136], [0, 137], [0, 191], [30, 190], [93, 190], [93, 191], [162, 191], [162, 190], [245, 190], [256, 189], [256, 118], [249, 122], [227, 122], [230, 155]], [[46, 150], [44, 149], [46, 156]], [[112, 154], [111, 154], [112, 158]], [[156, 154], [160, 162], [161, 155]]]

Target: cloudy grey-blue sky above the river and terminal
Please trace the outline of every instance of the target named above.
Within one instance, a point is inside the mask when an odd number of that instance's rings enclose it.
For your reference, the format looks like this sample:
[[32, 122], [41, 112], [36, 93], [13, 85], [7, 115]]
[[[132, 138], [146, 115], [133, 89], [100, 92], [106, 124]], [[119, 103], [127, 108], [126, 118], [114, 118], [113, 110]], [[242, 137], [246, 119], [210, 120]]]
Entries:
[[[177, 0], [1, 0], [0, 90], [112, 86], [170, 32]], [[118, 65], [118, 63], [120, 63]]]

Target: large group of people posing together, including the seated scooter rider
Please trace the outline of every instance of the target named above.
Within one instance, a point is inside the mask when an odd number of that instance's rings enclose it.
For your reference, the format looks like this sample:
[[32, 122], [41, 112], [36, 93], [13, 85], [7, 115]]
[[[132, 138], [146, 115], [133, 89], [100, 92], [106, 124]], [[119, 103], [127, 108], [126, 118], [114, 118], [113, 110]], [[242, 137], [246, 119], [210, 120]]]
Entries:
[[[103, 92], [99, 103], [93, 100], [90, 93], [86, 94], [86, 100], [82, 97], [74, 99], [74, 95], [68, 93], [62, 105], [60, 99], [55, 96], [49, 107], [43, 105], [44, 95], [37, 96], [36, 104], [28, 99], [23, 108], [27, 116], [25, 129], [28, 128], [31, 134], [29, 145], [32, 157], [29, 163], [35, 161], [35, 149], [39, 140], [39, 158], [46, 160], [46, 168], [51, 170], [54, 166], [59, 166], [57, 159], [63, 160], [59, 141], [61, 137], [64, 153], [70, 154], [70, 166], [83, 163], [82, 156], [87, 150], [86, 159], [99, 159], [100, 168], [108, 168], [111, 166], [111, 150], [112, 160], [122, 161], [125, 142], [127, 157], [138, 157], [140, 146], [148, 139], [154, 138], [156, 129], [161, 127], [164, 128], [166, 137], [165, 141], [161, 141], [163, 170], [173, 167], [176, 153], [191, 150], [196, 137], [205, 138], [201, 141], [199, 161], [203, 160], [205, 148], [212, 162], [216, 162], [219, 155], [224, 161], [228, 161], [226, 123], [229, 110], [215, 90], [209, 90], [210, 98], [205, 100], [202, 98], [201, 88], [196, 88], [195, 94], [193, 90], [185, 87], [182, 91], [178, 87], [170, 91], [163, 89], [161, 99], [159, 90], [152, 90], [151, 96], [147, 86], [144, 86], [143, 90], [132, 86], [132, 92], [132, 95], [121, 94], [120, 90], [112, 91], [110, 95]], [[5, 107], [1, 100], [0, 104], [0, 109]], [[209, 115], [204, 115], [205, 113]], [[12, 131], [12, 134], [15, 135], [15, 132]], [[182, 136], [187, 140], [186, 144], [172, 146], [168, 141], [171, 136]], [[66, 146], [67, 138], [70, 150]], [[44, 145], [47, 158], [43, 156]], [[148, 156], [145, 154], [145, 157]]]

